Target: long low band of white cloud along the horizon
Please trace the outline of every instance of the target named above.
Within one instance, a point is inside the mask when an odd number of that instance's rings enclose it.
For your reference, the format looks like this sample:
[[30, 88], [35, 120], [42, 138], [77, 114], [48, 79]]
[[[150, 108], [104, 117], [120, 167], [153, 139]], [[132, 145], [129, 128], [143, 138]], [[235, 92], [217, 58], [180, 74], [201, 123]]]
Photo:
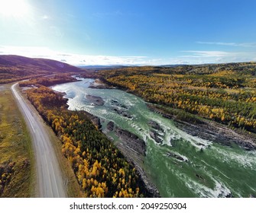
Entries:
[[[42, 46], [0, 46], [1, 55], [54, 59], [71, 65], [174, 65], [256, 61], [256, 52], [186, 50], [172, 58], [147, 56], [89, 56], [57, 52]], [[181, 54], [180, 54], [181, 53]]]

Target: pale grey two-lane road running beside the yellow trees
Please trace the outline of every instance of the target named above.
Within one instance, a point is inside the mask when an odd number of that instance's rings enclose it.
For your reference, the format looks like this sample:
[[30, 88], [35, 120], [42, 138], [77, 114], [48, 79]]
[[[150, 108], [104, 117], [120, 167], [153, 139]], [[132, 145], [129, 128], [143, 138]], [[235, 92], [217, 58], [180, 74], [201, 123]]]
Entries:
[[24, 115], [31, 133], [37, 165], [37, 182], [39, 187], [37, 196], [43, 198], [66, 197], [60, 166], [50, 143], [50, 138], [41, 121], [32, 113], [30, 106], [25, 103], [16, 90], [17, 85], [18, 83], [11, 86], [11, 92], [18, 101], [21, 113]]

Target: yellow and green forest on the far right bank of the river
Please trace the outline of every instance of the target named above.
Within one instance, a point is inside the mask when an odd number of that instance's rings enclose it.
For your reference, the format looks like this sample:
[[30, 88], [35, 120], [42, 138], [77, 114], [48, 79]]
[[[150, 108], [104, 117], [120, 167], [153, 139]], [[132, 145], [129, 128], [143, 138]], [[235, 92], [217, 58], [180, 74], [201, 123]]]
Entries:
[[195, 115], [256, 132], [255, 62], [117, 68], [99, 70], [94, 78], [137, 94], [168, 113], [182, 114], [183, 119]]

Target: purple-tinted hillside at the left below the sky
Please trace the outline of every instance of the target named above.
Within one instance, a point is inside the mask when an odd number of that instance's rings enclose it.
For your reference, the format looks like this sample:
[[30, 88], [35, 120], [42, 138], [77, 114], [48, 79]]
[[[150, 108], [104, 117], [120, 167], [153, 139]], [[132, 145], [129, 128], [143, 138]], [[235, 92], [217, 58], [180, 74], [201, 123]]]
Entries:
[[0, 56], [0, 84], [53, 73], [79, 72], [80, 68], [50, 59]]

